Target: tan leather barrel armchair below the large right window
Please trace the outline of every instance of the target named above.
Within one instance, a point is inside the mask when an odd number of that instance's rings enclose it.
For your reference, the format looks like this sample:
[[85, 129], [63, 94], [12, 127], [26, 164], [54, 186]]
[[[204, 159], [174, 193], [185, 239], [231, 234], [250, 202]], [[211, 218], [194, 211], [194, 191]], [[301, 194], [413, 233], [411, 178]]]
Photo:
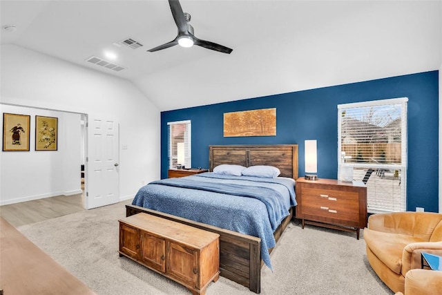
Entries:
[[393, 292], [404, 292], [407, 272], [421, 268], [422, 251], [442, 256], [439, 213], [374, 214], [363, 235], [370, 265]]

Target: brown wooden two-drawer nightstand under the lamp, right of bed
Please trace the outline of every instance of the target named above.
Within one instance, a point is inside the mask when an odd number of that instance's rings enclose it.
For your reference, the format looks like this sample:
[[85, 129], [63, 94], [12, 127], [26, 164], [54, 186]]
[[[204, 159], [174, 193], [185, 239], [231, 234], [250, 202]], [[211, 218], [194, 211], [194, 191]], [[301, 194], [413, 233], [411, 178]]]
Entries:
[[296, 180], [296, 218], [305, 224], [356, 231], [367, 226], [367, 187], [363, 182]]

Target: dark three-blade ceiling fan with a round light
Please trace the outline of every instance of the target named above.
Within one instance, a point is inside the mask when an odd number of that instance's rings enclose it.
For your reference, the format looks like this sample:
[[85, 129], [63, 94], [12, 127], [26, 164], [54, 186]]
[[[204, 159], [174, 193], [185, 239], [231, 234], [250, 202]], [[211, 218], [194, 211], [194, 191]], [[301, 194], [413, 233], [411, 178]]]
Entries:
[[197, 45], [207, 49], [219, 51], [220, 53], [230, 54], [232, 52], [233, 49], [227, 48], [226, 46], [195, 37], [195, 35], [193, 35], [193, 27], [189, 23], [191, 20], [191, 15], [189, 15], [189, 13], [182, 12], [180, 1], [169, 0], [169, 5], [171, 6], [173, 19], [175, 19], [175, 23], [178, 28], [178, 35], [169, 43], [149, 49], [149, 52], [153, 53], [154, 51], [166, 49], [177, 44], [180, 44], [182, 47], [191, 47], [193, 45]]

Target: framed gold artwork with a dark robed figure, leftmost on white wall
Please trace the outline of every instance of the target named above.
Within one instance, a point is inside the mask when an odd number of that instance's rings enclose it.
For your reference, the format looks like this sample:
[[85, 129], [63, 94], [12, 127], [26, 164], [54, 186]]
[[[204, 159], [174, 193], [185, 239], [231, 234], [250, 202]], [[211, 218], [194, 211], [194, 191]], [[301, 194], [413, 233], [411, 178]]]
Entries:
[[3, 113], [3, 151], [29, 151], [30, 115]]

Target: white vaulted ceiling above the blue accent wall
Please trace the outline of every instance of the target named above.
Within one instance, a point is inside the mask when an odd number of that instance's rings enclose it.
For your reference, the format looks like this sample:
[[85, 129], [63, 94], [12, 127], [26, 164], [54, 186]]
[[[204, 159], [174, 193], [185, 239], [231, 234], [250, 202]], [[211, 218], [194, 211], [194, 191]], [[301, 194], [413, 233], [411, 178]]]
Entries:
[[[128, 79], [160, 111], [437, 70], [442, 1], [180, 1], [195, 36], [233, 48], [146, 50], [175, 38], [169, 3], [3, 1], [1, 44]], [[3, 26], [14, 24], [16, 32]], [[131, 37], [133, 50], [114, 42]], [[86, 61], [117, 55], [115, 72]]]

